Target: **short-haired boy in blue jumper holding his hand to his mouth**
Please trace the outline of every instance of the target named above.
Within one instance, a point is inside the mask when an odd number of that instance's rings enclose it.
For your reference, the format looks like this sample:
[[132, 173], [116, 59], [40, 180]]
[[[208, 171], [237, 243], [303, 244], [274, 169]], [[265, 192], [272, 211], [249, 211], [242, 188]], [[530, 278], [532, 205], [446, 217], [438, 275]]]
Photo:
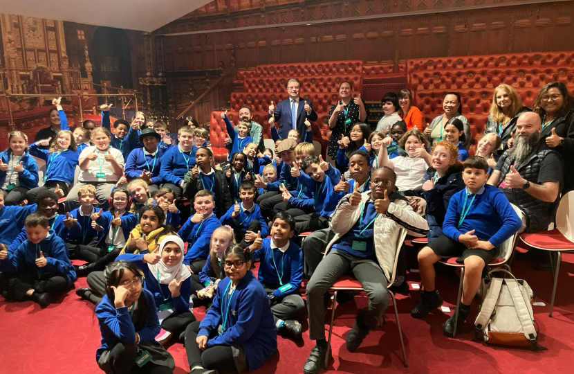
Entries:
[[187, 242], [187, 253], [183, 263], [193, 274], [205, 265], [207, 255], [210, 253], [210, 238], [221, 222], [213, 214], [215, 206], [213, 194], [209, 190], [201, 190], [195, 194], [195, 214], [181, 226], [178, 235]]

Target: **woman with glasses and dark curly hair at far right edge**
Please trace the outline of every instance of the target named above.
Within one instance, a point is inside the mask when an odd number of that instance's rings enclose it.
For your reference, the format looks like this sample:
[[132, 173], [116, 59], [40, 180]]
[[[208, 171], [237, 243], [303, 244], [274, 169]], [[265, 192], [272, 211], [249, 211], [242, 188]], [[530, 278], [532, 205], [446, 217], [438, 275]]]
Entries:
[[[540, 89], [533, 110], [542, 120], [540, 139], [562, 154], [564, 161], [574, 157], [574, 98], [561, 82], [550, 82]], [[564, 195], [574, 190], [574, 168], [564, 163]]]

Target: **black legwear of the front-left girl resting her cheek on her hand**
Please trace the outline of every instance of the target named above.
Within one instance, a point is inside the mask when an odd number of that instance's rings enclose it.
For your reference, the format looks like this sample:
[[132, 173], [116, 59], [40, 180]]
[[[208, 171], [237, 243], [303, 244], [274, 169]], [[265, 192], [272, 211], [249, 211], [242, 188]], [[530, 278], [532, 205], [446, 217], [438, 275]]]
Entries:
[[109, 355], [109, 368], [113, 374], [172, 374], [167, 366], [160, 366], [148, 362], [141, 368], [136, 364], [138, 346], [136, 344], [118, 343], [111, 349]]

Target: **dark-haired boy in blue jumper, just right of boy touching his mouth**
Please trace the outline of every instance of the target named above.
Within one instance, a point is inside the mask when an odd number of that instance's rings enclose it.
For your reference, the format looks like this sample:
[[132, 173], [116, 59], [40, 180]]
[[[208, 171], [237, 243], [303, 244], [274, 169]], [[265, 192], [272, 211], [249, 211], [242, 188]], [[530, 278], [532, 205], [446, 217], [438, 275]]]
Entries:
[[239, 186], [239, 197], [241, 204], [236, 202], [219, 219], [221, 224], [228, 224], [235, 233], [235, 241], [247, 247], [257, 238], [257, 233], [261, 238], [266, 238], [269, 227], [259, 205], [255, 204], [255, 185], [252, 181], [243, 181]]

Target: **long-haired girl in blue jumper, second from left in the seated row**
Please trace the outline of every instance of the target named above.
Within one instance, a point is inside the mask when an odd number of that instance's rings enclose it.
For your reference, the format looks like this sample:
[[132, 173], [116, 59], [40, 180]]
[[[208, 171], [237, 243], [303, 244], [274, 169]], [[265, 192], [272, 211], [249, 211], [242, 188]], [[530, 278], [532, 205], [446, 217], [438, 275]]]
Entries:
[[58, 132], [56, 141], [51, 143], [48, 150], [45, 145], [50, 145], [50, 139], [37, 141], [30, 145], [30, 154], [46, 161], [44, 173], [44, 186], [33, 188], [26, 193], [28, 204], [36, 202], [36, 196], [41, 190], [62, 190], [64, 197], [68, 195], [68, 187], [74, 183], [74, 175], [80, 154], [77, 152], [72, 133], [69, 130]]

